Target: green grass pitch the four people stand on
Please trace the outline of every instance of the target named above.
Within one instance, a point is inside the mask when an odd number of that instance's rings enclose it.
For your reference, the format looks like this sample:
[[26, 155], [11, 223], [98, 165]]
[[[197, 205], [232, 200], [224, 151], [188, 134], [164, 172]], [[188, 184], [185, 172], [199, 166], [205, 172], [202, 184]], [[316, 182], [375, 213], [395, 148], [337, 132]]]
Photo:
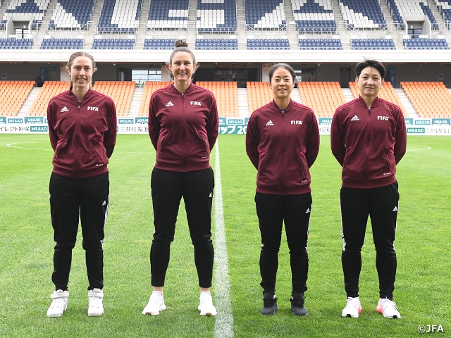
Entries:
[[[183, 203], [165, 287], [168, 309], [142, 315], [151, 293], [150, 174], [155, 151], [145, 134], [118, 135], [109, 164], [111, 202], [104, 242], [105, 313], [87, 317], [87, 276], [81, 233], [73, 250], [68, 311], [47, 318], [53, 292], [53, 231], [49, 177], [53, 151], [47, 135], [0, 134], [0, 337], [421, 337], [419, 325], [451, 332], [451, 137], [409, 136], [397, 166], [400, 184], [398, 268], [394, 301], [402, 319], [376, 313], [378, 281], [371, 227], [362, 251], [359, 318], [342, 318], [345, 291], [340, 252], [340, 165], [321, 137], [311, 168], [313, 210], [309, 235], [309, 315], [290, 311], [291, 276], [283, 237], [276, 294], [280, 310], [260, 315], [260, 237], [254, 207], [257, 170], [245, 154], [244, 135], [220, 135], [224, 228], [230, 294], [212, 288], [214, 302], [229, 299], [231, 313], [203, 317]], [[215, 168], [216, 152], [211, 166]], [[216, 183], [218, 183], [216, 181]], [[214, 210], [213, 219], [215, 218]], [[213, 225], [215, 233], [215, 225]], [[214, 240], [216, 237], [214, 236]], [[216, 250], [216, 255], [221, 255]], [[222, 290], [222, 289], [221, 289]], [[230, 320], [233, 318], [233, 322]], [[224, 325], [231, 330], [224, 333]], [[440, 332], [438, 333], [440, 334]]]

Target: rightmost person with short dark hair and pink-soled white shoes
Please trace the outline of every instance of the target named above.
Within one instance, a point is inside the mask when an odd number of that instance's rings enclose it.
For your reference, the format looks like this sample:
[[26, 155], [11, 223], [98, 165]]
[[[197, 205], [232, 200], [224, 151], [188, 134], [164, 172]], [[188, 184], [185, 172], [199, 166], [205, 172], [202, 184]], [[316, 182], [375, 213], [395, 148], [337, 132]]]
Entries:
[[359, 98], [337, 108], [330, 130], [332, 153], [342, 166], [342, 269], [347, 294], [342, 316], [357, 318], [362, 312], [359, 275], [369, 216], [379, 277], [376, 311], [401, 318], [393, 301], [400, 199], [395, 173], [406, 152], [406, 126], [400, 107], [378, 97], [385, 77], [383, 64], [365, 60], [357, 63], [355, 73]]

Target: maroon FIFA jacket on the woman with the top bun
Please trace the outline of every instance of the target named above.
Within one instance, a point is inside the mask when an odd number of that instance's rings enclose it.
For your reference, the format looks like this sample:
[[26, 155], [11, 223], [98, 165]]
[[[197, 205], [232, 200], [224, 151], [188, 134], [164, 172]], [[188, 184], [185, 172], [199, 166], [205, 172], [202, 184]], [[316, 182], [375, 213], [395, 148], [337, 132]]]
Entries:
[[190, 84], [182, 94], [171, 84], [152, 94], [149, 136], [156, 150], [155, 168], [177, 172], [210, 168], [218, 131], [216, 99], [208, 89]]

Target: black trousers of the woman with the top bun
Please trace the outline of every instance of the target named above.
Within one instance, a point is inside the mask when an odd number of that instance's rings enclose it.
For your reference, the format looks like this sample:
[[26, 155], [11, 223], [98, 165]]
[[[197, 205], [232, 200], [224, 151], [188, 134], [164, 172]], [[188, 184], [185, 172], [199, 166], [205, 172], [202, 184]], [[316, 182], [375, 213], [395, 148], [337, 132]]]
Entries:
[[178, 173], [154, 168], [151, 187], [155, 225], [154, 240], [150, 249], [152, 286], [164, 285], [178, 208], [183, 197], [191, 241], [194, 245], [194, 263], [199, 277], [199, 287], [211, 287], [214, 259], [211, 242], [213, 169]]

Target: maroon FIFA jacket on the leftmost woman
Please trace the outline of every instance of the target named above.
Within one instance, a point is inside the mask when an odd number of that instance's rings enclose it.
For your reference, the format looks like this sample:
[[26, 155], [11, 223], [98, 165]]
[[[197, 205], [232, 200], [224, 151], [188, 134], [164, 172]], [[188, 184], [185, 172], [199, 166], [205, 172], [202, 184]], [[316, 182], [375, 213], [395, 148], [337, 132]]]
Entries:
[[116, 144], [116, 106], [109, 96], [89, 89], [78, 108], [72, 92], [54, 96], [47, 106], [53, 172], [72, 178], [101, 175]]

